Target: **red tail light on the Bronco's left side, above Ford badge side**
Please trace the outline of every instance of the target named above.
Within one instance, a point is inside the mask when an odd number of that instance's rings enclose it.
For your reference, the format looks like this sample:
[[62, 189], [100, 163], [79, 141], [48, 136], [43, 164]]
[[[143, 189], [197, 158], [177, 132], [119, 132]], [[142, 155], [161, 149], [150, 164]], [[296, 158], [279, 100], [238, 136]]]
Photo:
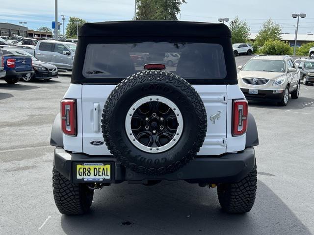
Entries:
[[77, 110], [75, 99], [61, 100], [62, 131], [69, 136], [77, 135]]

